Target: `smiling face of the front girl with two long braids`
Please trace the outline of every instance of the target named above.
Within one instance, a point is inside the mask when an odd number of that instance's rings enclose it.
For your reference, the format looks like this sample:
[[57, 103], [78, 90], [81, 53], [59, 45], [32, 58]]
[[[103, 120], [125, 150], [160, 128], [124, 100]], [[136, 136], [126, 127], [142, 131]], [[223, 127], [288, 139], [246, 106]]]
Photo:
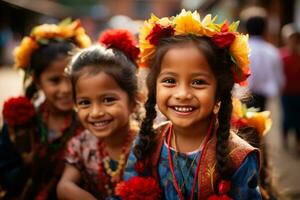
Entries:
[[195, 128], [210, 121], [217, 81], [196, 47], [171, 48], [162, 59], [156, 83], [158, 108], [174, 126]]

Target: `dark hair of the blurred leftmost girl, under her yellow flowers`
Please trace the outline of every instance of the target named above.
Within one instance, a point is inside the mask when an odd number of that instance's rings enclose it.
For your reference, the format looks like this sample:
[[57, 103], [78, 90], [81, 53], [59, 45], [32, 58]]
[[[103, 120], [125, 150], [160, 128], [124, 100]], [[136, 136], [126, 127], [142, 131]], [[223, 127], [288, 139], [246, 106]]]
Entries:
[[38, 92], [36, 83], [41, 74], [51, 65], [51, 63], [60, 56], [68, 56], [68, 53], [75, 46], [68, 41], [49, 40], [46, 44], [39, 44], [30, 58], [29, 70], [33, 74], [33, 80], [25, 88], [25, 95], [32, 99]]

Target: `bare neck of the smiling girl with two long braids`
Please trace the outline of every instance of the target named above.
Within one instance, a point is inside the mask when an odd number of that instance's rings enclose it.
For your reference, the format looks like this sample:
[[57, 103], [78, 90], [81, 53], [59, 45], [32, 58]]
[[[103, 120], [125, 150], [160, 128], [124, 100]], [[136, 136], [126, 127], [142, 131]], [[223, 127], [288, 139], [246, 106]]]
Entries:
[[198, 150], [208, 134], [209, 126], [210, 121], [188, 129], [173, 126], [171, 146], [182, 153]]

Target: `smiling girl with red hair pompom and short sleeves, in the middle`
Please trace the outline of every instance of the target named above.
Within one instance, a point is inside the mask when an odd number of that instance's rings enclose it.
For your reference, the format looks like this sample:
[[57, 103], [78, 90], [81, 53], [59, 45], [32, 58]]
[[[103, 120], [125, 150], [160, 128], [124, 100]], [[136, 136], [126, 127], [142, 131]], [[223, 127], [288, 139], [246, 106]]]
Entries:
[[104, 32], [99, 41], [106, 48], [98, 45], [83, 50], [71, 63], [73, 96], [86, 130], [68, 145], [57, 188], [60, 199], [113, 195], [135, 135], [129, 118], [136, 105], [139, 49], [125, 30]]

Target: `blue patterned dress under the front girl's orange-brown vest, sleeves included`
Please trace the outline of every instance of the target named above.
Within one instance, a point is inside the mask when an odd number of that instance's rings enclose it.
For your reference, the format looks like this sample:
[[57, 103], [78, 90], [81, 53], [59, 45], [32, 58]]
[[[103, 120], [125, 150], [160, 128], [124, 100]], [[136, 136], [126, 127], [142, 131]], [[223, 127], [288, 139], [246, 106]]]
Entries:
[[[184, 198], [188, 199], [193, 184], [196, 165], [199, 162], [199, 158], [201, 155], [201, 149], [199, 151], [191, 152], [188, 154], [179, 153], [177, 157], [175, 156], [176, 152], [174, 151], [174, 149], [171, 149], [171, 153], [173, 156], [176, 179], [179, 183], [179, 186], [182, 187]], [[174, 157], [176, 157], [178, 162], [174, 161], [176, 160], [174, 159]], [[188, 168], [189, 166], [191, 166], [191, 162], [193, 162], [194, 159], [197, 163], [195, 163], [195, 165], [192, 166], [191, 171], [189, 172]], [[124, 180], [128, 180], [131, 177], [138, 175], [134, 169], [135, 163], [136, 157], [134, 153], [131, 152], [127, 161], [127, 166], [125, 168]], [[159, 176], [159, 184], [163, 190], [163, 198], [167, 200], [179, 199], [179, 196], [177, 195], [177, 191], [173, 184], [172, 174], [169, 167], [168, 147], [166, 144], [166, 140], [164, 140], [163, 146], [160, 151], [160, 158], [158, 161], [157, 170]], [[261, 199], [261, 195], [257, 186], [258, 173], [259, 167], [257, 154], [250, 153], [248, 154], [248, 156], [246, 156], [240, 167], [234, 172], [231, 178], [232, 186], [229, 192], [231, 197], [235, 200]], [[184, 181], [185, 184], [183, 186]], [[198, 199], [197, 188], [198, 186], [195, 187], [194, 199]]]

